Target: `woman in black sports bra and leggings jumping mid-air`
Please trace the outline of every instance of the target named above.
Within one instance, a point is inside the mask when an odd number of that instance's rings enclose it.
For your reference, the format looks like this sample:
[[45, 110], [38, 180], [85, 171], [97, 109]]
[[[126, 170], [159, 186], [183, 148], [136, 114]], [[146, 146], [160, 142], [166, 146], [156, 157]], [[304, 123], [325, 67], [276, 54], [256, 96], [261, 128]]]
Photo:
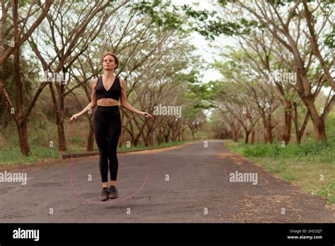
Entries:
[[[115, 199], [117, 192], [117, 144], [121, 132], [121, 117], [119, 113], [119, 98], [125, 109], [147, 118], [152, 118], [147, 112], [136, 110], [127, 102], [126, 82], [114, 76], [114, 69], [117, 69], [119, 59], [112, 52], [105, 52], [102, 55], [102, 68], [104, 74], [92, 82], [92, 97], [90, 103], [78, 114], [72, 115], [70, 121], [75, 121], [79, 116], [84, 115], [88, 110], [97, 106], [94, 113], [93, 128], [95, 141], [99, 148], [99, 168], [102, 181], [101, 200]], [[108, 160], [110, 162], [110, 187], [108, 187]]]

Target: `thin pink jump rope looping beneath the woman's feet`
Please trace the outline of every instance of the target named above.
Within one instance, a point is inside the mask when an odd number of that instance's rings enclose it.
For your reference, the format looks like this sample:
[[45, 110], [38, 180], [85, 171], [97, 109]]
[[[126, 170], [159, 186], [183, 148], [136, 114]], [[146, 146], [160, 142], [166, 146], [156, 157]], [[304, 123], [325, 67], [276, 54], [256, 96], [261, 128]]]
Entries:
[[[147, 115], [147, 114], [145, 114]], [[124, 198], [117, 198], [117, 199], [113, 199], [112, 201], [90, 201], [88, 199], [86, 199], [85, 197], [81, 196], [81, 194], [79, 194], [76, 190], [76, 188], [74, 187], [74, 182], [73, 182], [73, 179], [72, 179], [72, 167], [73, 167], [73, 158], [72, 158], [72, 137], [73, 137], [73, 129], [72, 129], [72, 122], [70, 121], [70, 136], [71, 136], [71, 186], [72, 186], [72, 189], [74, 189], [74, 193], [80, 198], [80, 199], [83, 199], [84, 201], [88, 201], [89, 203], [91, 204], [113, 204], [114, 202], [117, 202], [117, 201], [125, 201], [131, 197], [134, 197], [138, 192], [141, 191], [141, 189], [143, 188], [143, 186], [146, 184], [146, 181], [148, 180], [148, 177], [149, 177], [149, 173], [150, 173], [150, 170], [151, 170], [151, 165], [152, 165], [152, 157], [153, 157], [153, 120], [151, 122], [151, 151], [150, 151], [150, 156], [149, 156], [149, 163], [148, 163], [148, 170], [146, 172], [146, 179], [143, 181], [143, 184], [142, 186], [134, 193], [134, 194], [131, 194], [130, 196], [128, 197], [124, 197]]]

